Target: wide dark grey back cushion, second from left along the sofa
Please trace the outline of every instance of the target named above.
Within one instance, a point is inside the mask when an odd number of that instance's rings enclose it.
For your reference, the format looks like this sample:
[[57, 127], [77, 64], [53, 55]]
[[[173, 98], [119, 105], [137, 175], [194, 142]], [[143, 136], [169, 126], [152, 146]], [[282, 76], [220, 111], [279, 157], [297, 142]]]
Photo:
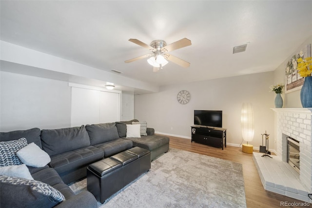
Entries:
[[80, 127], [41, 130], [42, 148], [50, 156], [90, 146], [84, 125]]

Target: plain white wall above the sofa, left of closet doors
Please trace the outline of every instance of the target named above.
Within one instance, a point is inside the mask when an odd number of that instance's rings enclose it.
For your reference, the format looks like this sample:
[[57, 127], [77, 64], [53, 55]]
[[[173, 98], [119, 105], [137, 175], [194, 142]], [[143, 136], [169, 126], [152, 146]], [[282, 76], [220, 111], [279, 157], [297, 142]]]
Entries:
[[0, 131], [70, 127], [67, 82], [0, 72]]

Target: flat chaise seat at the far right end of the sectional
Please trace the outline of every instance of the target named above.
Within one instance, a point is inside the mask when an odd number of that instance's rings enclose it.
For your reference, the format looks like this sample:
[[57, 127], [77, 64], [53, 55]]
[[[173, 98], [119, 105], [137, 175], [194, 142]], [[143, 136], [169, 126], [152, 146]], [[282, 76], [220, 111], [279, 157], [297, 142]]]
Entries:
[[153, 136], [141, 136], [141, 138], [126, 138], [124, 139], [131, 140], [133, 142], [133, 146], [138, 146], [144, 149], [148, 149], [150, 151], [169, 144], [169, 137], [153, 135]]

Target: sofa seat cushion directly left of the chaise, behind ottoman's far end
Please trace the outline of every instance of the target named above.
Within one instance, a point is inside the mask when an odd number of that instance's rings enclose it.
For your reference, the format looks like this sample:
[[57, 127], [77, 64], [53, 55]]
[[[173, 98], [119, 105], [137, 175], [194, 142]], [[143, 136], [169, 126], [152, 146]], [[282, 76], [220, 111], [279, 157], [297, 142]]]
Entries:
[[133, 147], [133, 143], [130, 140], [124, 139], [115, 139], [109, 142], [101, 143], [94, 145], [104, 151], [104, 157], [110, 157], [124, 150], [130, 149]]

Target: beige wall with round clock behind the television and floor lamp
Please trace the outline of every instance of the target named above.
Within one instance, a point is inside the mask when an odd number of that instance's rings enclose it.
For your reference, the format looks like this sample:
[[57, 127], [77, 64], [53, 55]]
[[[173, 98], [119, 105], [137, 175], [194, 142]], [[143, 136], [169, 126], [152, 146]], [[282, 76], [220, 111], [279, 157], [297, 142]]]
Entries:
[[[274, 93], [269, 92], [273, 73], [163, 86], [158, 93], [135, 96], [135, 118], [147, 121], [156, 132], [190, 138], [195, 109], [222, 110], [223, 128], [228, 129], [227, 143], [238, 146], [242, 142], [240, 111], [242, 104], [249, 102], [254, 106], [255, 122], [254, 141], [250, 144], [258, 148], [265, 130], [273, 135], [274, 112], [270, 108], [274, 107]], [[180, 90], [191, 93], [188, 104], [177, 102]], [[270, 146], [274, 146], [273, 137]]]

